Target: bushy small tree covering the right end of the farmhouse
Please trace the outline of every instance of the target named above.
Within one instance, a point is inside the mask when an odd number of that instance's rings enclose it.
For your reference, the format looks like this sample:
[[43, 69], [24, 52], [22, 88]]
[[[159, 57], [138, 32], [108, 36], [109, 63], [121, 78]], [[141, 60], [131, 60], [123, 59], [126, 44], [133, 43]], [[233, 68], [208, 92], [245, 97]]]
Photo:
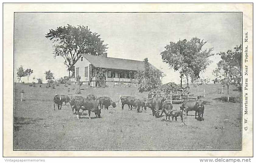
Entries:
[[144, 59], [145, 69], [143, 71], [138, 71], [135, 74], [135, 78], [138, 79], [138, 90], [139, 92], [151, 91], [162, 84], [161, 78], [163, 78], [163, 73], [159, 70], [152, 68], [148, 62], [148, 58]]

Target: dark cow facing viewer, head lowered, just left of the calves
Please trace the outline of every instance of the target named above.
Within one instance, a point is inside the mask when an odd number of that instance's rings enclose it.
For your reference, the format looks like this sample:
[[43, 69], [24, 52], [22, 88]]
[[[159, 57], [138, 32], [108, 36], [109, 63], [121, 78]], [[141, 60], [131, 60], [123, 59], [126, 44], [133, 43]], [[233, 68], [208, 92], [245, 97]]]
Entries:
[[148, 98], [147, 99], [146, 106], [151, 108], [153, 116], [159, 117], [159, 111], [162, 110], [162, 105], [163, 105], [164, 100], [165, 100], [164, 97]]

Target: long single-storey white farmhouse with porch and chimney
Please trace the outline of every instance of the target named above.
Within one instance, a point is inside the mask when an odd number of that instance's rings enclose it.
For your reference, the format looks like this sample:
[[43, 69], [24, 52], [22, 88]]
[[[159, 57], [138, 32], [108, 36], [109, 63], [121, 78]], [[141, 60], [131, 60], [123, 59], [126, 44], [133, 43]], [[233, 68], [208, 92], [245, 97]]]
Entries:
[[[158, 70], [150, 63], [149, 65]], [[145, 69], [145, 61], [107, 57], [107, 53], [103, 53], [103, 56], [83, 54], [74, 62], [73, 68], [73, 77], [79, 75], [83, 84], [93, 87], [96, 86], [96, 74], [103, 69], [106, 84], [111, 86], [118, 82], [136, 83], [135, 72]]]

